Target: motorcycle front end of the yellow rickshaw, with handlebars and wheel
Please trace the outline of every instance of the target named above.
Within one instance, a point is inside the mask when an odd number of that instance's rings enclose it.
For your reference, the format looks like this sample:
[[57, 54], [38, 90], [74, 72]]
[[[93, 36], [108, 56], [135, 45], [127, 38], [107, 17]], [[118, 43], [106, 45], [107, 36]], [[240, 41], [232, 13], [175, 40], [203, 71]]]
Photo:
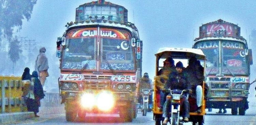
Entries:
[[171, 125], [182, 125], [184, 123], [183, 117], [180, 116], [181, 96], [186, 90], [170, 90], [171, 99]]

